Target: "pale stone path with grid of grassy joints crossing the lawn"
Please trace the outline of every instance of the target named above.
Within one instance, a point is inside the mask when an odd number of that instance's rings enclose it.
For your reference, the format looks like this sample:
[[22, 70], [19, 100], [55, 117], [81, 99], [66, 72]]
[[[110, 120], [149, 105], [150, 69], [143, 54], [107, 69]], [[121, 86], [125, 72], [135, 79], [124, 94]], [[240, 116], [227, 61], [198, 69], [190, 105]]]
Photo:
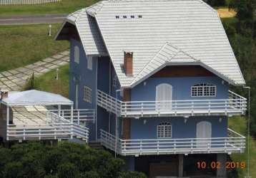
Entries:
[[34, 76], [38, 77], [67, 63], [69, 63], [69, 51], [64, 51], [24, 67], [1, 72], [0, 88], [9, 91], [22, 90], [33, 71]]

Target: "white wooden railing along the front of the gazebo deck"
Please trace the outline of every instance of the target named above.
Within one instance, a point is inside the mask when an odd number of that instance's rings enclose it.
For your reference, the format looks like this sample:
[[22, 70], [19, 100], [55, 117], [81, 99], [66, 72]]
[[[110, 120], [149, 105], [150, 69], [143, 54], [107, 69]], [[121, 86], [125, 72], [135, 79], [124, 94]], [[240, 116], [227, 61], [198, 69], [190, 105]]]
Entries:
[[89, 129], [59, 117], [54, 112], [47, 112], [45, 123], [7, 125], [6, 140], [62, 140], [73, 136], [86, 141]]

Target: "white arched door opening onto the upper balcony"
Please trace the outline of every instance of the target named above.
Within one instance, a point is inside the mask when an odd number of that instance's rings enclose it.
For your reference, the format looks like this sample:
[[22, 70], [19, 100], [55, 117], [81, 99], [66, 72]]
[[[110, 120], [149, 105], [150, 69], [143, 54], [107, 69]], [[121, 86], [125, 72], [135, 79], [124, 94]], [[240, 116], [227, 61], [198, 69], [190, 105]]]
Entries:
[[172, 109], [172, 85], [162, 83], [156, 88], [157, 109], [171, 110]]

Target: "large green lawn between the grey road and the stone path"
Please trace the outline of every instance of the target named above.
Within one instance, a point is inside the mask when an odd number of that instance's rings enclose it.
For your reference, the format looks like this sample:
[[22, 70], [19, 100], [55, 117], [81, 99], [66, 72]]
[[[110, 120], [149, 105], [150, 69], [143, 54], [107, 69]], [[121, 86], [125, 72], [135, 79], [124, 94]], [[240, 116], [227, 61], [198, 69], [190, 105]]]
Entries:
[[52, 36], [47, 36], [46, 24], [0, 26], [0, 71], [19, 68], [67, 50], [67, 41], [54, 41], [60, 26], [52, 25]]

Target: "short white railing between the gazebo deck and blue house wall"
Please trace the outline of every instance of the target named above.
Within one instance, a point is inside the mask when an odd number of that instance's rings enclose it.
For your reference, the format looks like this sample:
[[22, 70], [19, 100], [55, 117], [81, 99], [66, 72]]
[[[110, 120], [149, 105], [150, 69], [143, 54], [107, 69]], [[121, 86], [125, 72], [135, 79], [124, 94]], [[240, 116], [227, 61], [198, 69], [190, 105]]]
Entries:
[[[61, 115], [64, 119], [71, 120], [71, 110], [50, 110], [56, 114]], [[73, 110], [73, 121], [78, 125], [84, 122], [95, 122], [96, 113], [91, 109]]]

